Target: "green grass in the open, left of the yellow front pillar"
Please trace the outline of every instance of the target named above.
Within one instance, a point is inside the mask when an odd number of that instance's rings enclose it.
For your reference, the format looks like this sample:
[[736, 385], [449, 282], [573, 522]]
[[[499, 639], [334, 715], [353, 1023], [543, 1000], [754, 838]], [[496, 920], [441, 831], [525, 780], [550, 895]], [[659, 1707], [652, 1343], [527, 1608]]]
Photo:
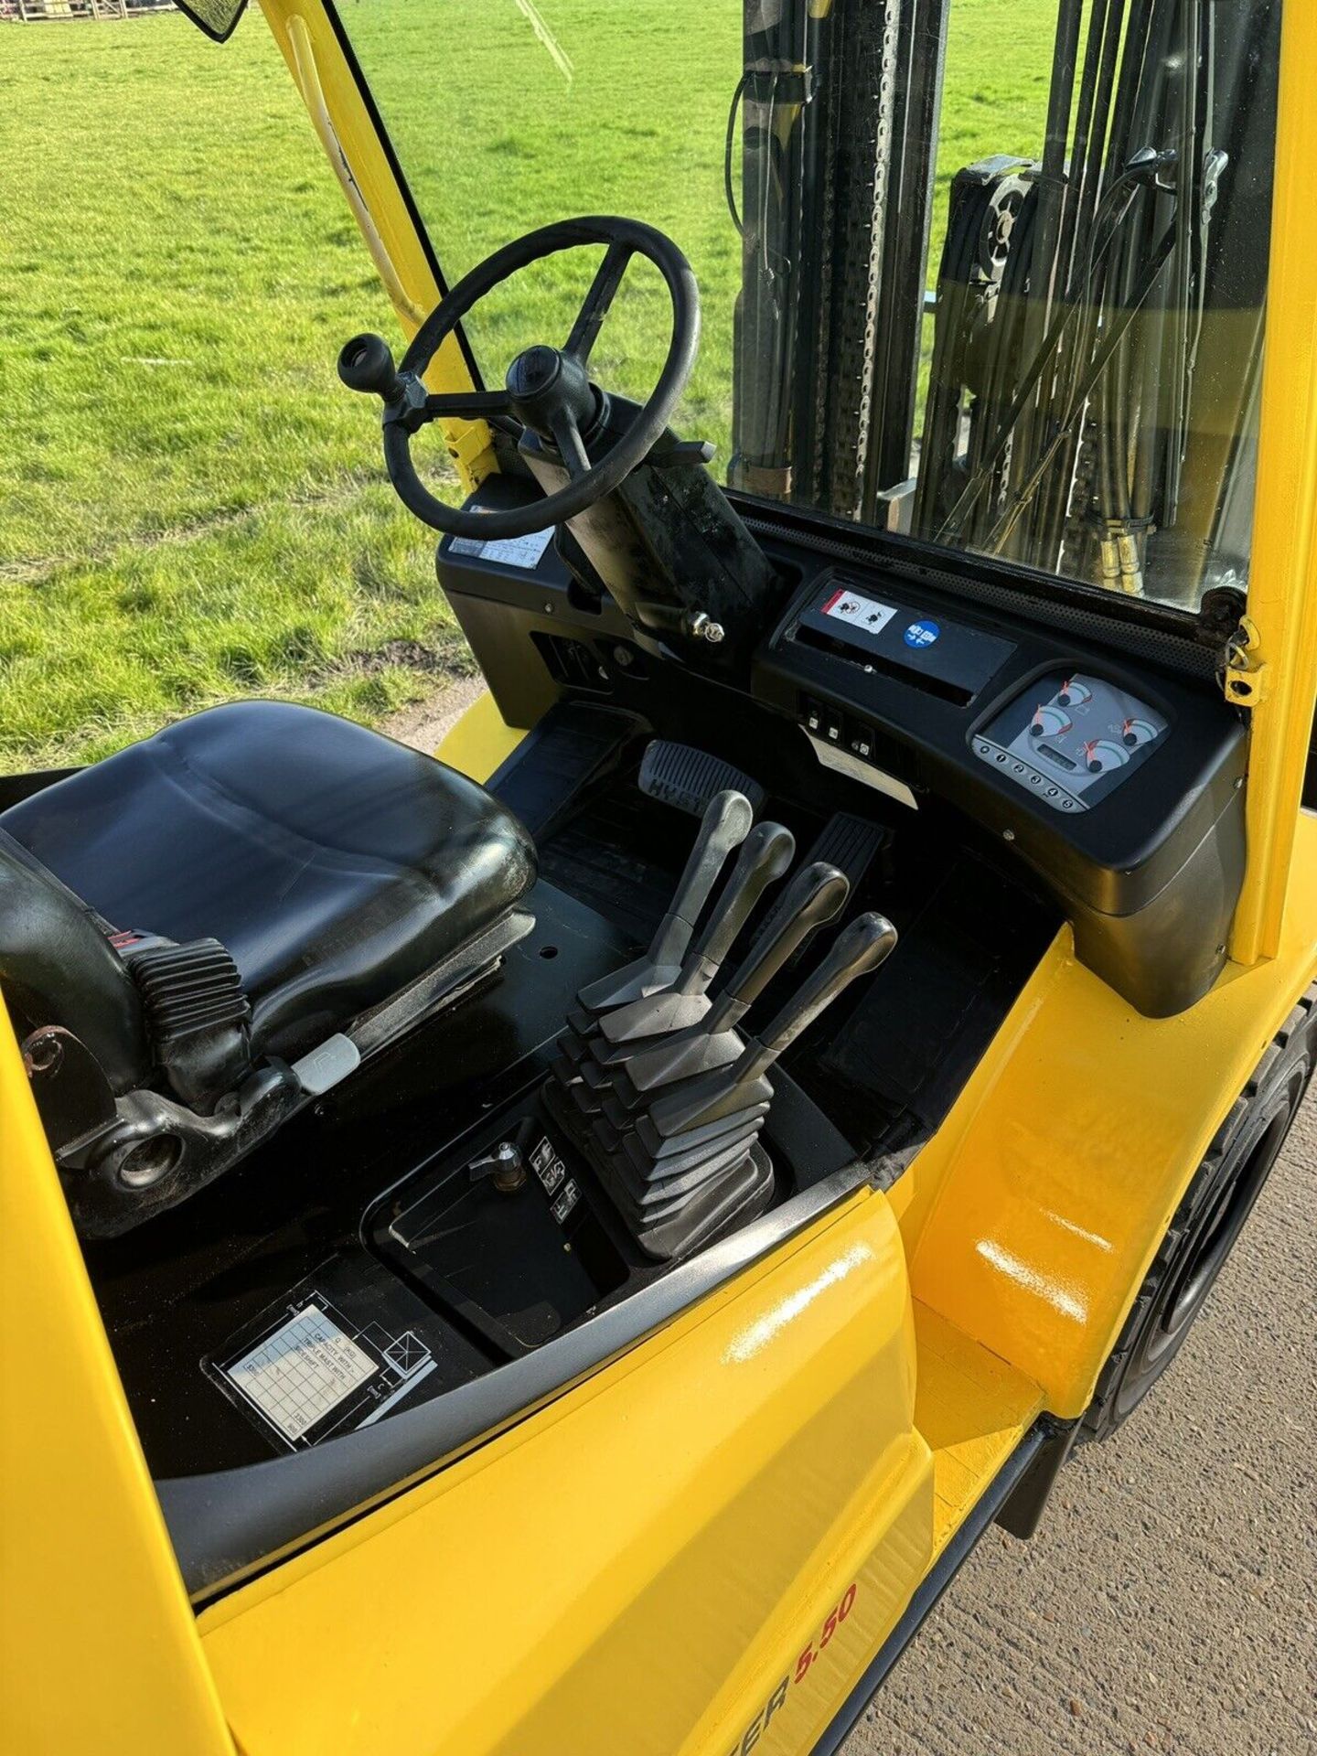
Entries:
[[260, 14], [5, 26], [0, 186], [4, 764], [465, 667], [334, 372], [390, 314]]

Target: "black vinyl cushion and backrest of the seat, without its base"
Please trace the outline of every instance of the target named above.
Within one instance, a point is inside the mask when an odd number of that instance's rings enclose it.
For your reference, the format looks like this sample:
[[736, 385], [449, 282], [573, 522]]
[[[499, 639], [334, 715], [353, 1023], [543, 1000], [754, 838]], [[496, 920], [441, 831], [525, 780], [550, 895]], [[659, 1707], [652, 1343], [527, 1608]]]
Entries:
[[25, 1026], [77, 1038], [121, 1119], [148, 1085], [209, 1113], [195, 1068], [191, 1089], [162, 1080], [137, 946], [176, 941], [153, 966], [170, 1018], [237, 1027], [248, 1071], [335, 1034], [367, 1052], [443, 997], [435, 971], [465, 980], [467, 948], [529, 927], [534, 880], [530, 836], [464, 774], [313, 708], [237, 702], [0, 813], [0, 983]]

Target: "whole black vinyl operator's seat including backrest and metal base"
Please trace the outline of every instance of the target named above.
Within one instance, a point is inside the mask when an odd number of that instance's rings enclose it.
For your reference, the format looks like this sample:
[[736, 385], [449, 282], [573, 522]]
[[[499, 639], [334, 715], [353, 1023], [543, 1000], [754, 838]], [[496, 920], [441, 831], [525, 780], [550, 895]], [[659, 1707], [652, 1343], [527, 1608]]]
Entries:
[[79, 1229], [176, 1205], [457, 1004], [534, 880], [483, 787], [274, 701], [0, 813], [0, 989]]

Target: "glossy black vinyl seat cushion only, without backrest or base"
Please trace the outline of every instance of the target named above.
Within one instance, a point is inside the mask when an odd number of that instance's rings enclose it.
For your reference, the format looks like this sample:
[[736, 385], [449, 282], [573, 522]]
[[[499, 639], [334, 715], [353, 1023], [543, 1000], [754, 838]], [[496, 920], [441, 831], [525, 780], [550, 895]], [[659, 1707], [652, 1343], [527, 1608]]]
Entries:
[[123, 931], [220, 939], [293, 1057], [506, 915], [530, 838], [483, 787], [313, 708], [212, 708], [0, 813]]

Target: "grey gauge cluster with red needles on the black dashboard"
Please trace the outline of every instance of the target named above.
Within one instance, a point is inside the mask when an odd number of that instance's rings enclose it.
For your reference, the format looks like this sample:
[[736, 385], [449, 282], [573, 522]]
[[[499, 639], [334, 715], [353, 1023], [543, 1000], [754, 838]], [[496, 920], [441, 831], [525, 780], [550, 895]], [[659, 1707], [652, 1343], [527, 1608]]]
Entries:
[[1054, 811], [1087, 811], [1166, 730], [1166, 718], [1138, 695], [1083, 671], [1052, 671], [976, 732], [973, 750]]

